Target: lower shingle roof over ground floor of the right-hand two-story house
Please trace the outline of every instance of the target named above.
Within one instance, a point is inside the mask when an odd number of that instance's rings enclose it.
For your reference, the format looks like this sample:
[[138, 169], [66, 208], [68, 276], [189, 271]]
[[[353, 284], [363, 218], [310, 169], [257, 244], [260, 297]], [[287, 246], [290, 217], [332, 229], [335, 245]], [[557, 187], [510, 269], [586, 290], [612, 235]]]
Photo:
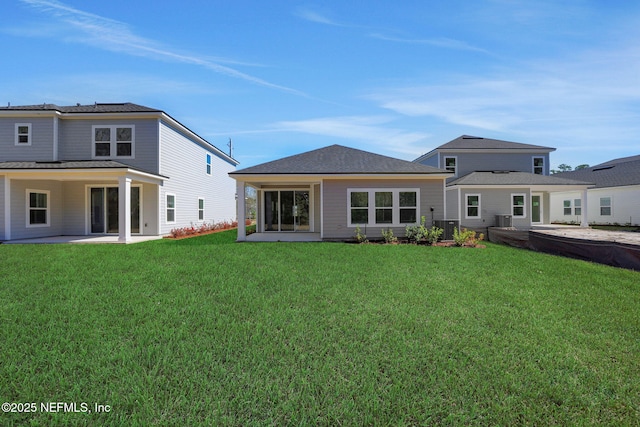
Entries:
[[448, 185], [590, 185], [575, 179], [559, 178], [556, 175], [538, 175], [528, 172], [471, 172], [451, 181]]

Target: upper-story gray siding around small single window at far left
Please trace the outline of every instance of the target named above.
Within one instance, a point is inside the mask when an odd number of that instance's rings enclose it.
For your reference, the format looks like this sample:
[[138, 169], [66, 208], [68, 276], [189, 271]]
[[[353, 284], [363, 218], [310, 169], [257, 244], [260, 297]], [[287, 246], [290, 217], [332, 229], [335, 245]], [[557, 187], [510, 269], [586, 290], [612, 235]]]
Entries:
[[[0, 162], [54, 160], [54, 120], [53, 117], [0, 118]], [[16, 123], [31, 124], [31, 145], [15, 145]]]

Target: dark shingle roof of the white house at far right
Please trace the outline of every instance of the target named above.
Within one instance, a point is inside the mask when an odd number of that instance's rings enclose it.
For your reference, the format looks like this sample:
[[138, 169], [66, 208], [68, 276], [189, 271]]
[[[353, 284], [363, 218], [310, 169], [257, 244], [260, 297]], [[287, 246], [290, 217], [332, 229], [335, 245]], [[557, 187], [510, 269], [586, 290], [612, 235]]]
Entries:
[[553, 176], [595, 183], [595, 188], [640, 185], [640, 156], [623, 157], [596, 166]]

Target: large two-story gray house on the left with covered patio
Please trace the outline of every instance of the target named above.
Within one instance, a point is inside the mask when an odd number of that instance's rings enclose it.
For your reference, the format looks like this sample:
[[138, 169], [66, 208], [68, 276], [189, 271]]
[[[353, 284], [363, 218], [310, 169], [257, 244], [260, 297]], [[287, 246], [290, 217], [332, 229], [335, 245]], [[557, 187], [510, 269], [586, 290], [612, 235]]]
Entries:
[[237, 164], [153, 108], [0, 107], [0, 241], [235, 220]]

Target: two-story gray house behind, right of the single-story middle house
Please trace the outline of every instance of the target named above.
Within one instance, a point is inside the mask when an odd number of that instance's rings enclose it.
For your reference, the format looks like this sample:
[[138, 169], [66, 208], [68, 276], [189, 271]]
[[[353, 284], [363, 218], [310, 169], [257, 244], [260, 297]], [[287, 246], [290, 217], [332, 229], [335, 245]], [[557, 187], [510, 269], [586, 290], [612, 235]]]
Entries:
[[447, 219], [478, 230], [529, 228], [550, 222], [551, 193], [576, 191], [586, 199], [590, 186], [549, 176], [552, 151], [555, 148], [463, 135], [414, 162], [453, 172], [445, 189]]

